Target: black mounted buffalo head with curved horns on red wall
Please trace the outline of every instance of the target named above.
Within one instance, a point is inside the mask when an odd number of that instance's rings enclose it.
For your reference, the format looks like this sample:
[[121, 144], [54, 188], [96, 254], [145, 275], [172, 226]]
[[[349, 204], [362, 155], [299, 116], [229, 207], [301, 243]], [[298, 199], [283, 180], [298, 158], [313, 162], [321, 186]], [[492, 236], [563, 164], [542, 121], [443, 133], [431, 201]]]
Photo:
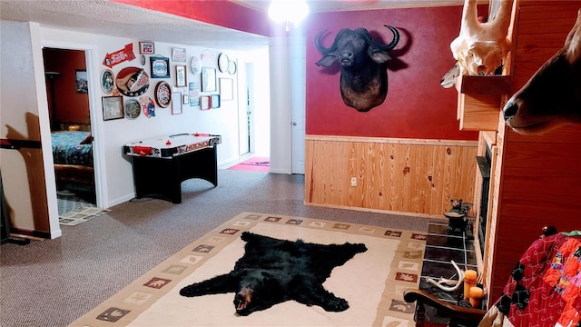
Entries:
[[330, 66], [339, 61], [341, 66], [340, 89], [343, 102], [360, 112], [382, 104], [388, 95], [387, 53], [399, 42], [399, 32], [395, 27], [385, 25], [393, 33], [389, 45], [376, 45], [365, 28], [344, 28], [335, 36], [333, 45], [320, 45], [322, 31], [315, 39], [315, 45], [323, 57], [320, 66]]

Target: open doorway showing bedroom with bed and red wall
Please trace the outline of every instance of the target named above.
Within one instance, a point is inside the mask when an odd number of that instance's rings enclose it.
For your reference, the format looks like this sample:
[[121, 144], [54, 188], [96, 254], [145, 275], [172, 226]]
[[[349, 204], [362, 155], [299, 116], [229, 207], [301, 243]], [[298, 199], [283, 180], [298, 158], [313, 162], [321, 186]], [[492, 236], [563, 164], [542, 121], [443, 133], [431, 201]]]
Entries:
[[96, 206], [93, 131], [84, 50], [43, 48], [59, 221]]

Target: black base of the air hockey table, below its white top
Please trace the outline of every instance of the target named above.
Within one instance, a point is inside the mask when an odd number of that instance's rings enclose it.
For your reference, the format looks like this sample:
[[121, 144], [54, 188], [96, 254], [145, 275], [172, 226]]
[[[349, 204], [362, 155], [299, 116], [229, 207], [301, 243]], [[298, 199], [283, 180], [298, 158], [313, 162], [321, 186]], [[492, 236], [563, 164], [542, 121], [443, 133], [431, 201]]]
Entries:
[[182, 203], [182, 182], [202, 178], [218, 186], [216, 145], [172, 158], [132, 156], [135, 197], [146, 195]]

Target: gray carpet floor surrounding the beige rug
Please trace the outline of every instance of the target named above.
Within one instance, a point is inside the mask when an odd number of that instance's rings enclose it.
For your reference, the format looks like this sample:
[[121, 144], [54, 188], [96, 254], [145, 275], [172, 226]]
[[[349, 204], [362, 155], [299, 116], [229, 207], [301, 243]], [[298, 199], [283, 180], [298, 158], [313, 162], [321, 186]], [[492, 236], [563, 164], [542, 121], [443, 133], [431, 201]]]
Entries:
[[304, 176], [219, 170], [219, 185], [182, 183], [182, 203], [141, 199], [63, 236], [0, 247], [0, 324], [65, 326], [241, 212], [428, 231], [428, 219], [303, 204]]

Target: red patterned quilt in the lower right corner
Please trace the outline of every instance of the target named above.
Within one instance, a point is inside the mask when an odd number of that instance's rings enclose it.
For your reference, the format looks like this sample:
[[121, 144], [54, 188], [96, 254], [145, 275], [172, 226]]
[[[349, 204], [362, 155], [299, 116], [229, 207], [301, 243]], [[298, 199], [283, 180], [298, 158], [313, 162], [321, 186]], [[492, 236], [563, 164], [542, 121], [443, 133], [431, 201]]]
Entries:
[[514, 326], [579, 326], [581, 236], [557, 233], [532, 243], [495, 309]]

